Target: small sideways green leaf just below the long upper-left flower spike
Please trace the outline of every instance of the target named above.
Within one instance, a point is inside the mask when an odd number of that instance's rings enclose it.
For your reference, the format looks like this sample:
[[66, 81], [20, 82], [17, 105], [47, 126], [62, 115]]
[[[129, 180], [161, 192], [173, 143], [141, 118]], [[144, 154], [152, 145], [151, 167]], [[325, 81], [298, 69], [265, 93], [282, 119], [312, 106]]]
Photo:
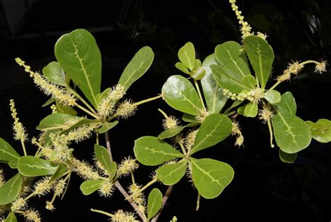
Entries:
[[50, 129], [61, 129], [64, 127], [66, 121], [70, 118], [75, 118], [67, 113], [52, 113], [39, 123], [36, 129], [38, 130], [50, 130]]

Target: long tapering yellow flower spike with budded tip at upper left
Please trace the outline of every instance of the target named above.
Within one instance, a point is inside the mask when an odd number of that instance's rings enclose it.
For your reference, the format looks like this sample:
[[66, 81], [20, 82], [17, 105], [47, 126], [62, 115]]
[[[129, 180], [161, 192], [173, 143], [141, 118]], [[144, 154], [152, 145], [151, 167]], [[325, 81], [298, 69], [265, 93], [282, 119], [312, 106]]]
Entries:
[[38, 72], [31, 71], [29, 65], [25, 65], [25, 62], [20, 58], [15, 59], [16, 63], [24, 67], [24, 71], [30, 74], [30, 77], [34, 79], [34, 83], [45, 93], [45, 95], [51, 95], [55, 100], [61, 102], [64, 106], [75, 106], [76, 99], [66, 89], [51, 83], [45, 77]]

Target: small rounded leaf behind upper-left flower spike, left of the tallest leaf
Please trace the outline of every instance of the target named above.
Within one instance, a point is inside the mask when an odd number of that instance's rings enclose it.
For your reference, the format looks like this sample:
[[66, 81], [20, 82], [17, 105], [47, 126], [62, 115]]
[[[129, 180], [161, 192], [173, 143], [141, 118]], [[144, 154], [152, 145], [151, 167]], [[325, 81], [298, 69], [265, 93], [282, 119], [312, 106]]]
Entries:
[[66, 86], [66, 74], [57, 62], [50, 62], [43, 68], [44, 76], [54, 84]]

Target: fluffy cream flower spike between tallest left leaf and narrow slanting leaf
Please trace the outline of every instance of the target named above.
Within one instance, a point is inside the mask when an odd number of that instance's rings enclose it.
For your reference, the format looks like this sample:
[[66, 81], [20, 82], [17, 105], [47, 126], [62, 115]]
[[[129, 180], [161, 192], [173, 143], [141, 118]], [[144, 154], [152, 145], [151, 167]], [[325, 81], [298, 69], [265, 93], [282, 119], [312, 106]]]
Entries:
[[102, 118], [108, 118], [114, 113], [115, 105], [126, 93], [126, 88], [121, 84], [114, 86], [108, 95], [98, 105], [98, 114]]

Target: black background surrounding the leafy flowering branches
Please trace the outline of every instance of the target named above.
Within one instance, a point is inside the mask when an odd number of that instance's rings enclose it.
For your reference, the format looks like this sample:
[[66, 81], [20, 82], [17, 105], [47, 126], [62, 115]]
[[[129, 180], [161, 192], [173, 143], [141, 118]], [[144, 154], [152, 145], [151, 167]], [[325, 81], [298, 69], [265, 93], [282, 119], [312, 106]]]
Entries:
[[[0, 136], [17, 150], [21, 148], [12, 138], [10, 98], [15, 99], [20, 120], [30, 136], [38, 135], [35, 127], [50, 109], [41, 108], [47, 97], [34, 87], [14, 59], [20, 56], [33, 70], [42, 70], [55, 60], [54, 43], [64, 33], [78, 28], [93, 33], [103, 59], [102, 89], [117, 83], [135, 51], [145, 45], [152, 47], [155, 53], [152, 68], [126, 95], [134, 101], [157, 95], [170, 75], [180, 74], [174, 64], [177, 50], [186, 42], [193, 42], [202, 61], [212, 54], [216, 45], [227, 40], [240, 42], [237, 20], [227, 1], [3, 0], [1, 3]], [[272, 77], [291, 61], [330, 61], [330, 1], [242, 0], [237, 4], [253, 30], [269, 36], [267, 40], [275, 53]], [[293, 92], [298, 116], [316, 121], [331, 118], [326, 107], [330, 103], [330, 83], [330, 71], [314, 74], [314, 67], [307, 66], [298, 77], [278, 89], [281, 93]], [[156, 136], [162, 131], [158, 107], [180, 118], [179, 113], [161, 100], [141, 106], [135, 116], [121, 121], [110, 132], [116, 161], [123, 155], [133, 155], [136, 138]], [[201, 157], [212, 157], [233, 166], [233, 182], [218, 198], [202, 199], [196, 212], [197, 192], [184, 178], [175, 186], [159, 221], [170, 221], [172, 216], [179, 221], [330, 221], [330, 143], [312, 141], [294, 164], [284, 164], [279, 160], [277, 148], [270, 148], [265, 125], [256, 119], [239, 120], [245, 137], [243, 148], [235, 148], [234, 138], [228, 138], [200, 153]], [[75, 156], [91, 161], [93, 141], [75, 145]], [[34, 149], [28, 145], [30, 154]], [[141, 167], [137, 182], [146, 184], [153, 169]], [[53, 213], [44, 208], [50, 196], [35, 198], [29, 206], [40, 210], [43, 221], [107, 220], [90, 212], [91, 207], [108, 212], [131, 211], [118, 192], [111, 198], [96, 194], [83, 196], [79, 190], [81, 182], [73, 175], [68, 193], [62, 201], [55, 201], [57, 210]], [[129, 180], [121, 182], [128, 185]], [[165, 192], [165, 186], [157, 186]]]

